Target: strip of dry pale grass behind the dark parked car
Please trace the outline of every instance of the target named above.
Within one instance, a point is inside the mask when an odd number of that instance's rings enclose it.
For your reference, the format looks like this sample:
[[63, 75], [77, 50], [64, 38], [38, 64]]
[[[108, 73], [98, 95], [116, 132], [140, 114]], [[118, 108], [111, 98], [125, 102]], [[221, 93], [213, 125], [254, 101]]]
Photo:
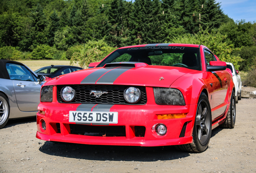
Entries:
[[[31, 70], [35, 71], [44, 66], [50, 65], [70, 65], [70, 61], [68, 60], [17, 60], [28, 66]], [[79, 66], [77, 64], [73, 64], [73, 66]]]

